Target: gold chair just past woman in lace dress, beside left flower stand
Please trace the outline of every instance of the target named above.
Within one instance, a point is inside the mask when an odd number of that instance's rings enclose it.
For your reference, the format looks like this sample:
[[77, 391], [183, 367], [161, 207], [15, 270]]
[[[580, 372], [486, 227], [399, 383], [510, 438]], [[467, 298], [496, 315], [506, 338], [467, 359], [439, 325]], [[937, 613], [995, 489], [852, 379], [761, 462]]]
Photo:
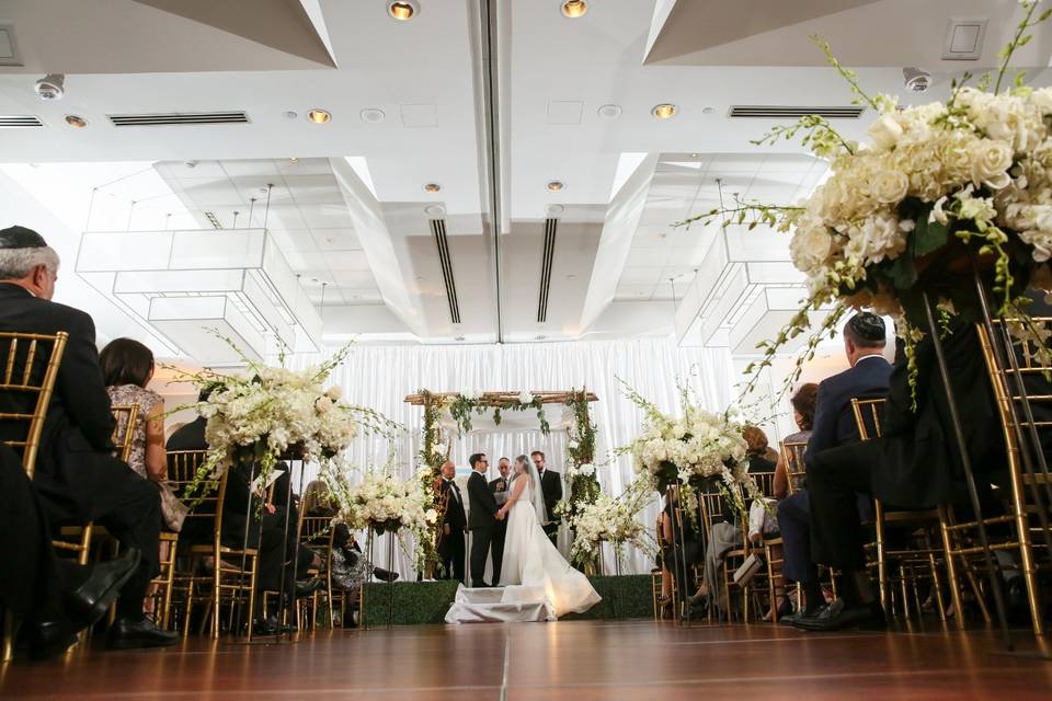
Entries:
[[[219, 478], [216, 492], [214, 531], [208, 544], [192, 544], [188, 549], [191, 558], [191, 575], [187, 582], [186, 611], [184, 634], [190, 627], [190, 616], [195, 601], [195, 589], [198, 586], [208, 587], [208, 613], [206, 620], [211, 619], [211, 636], [219, 637], [219, 612], [224, 601], [230, 604], [230, 614], [239, 604], [241, 596], [248, 594], [248, 640], [252, 640], [253, 613], [255, 611], [255, 579], [258, 574], [259, 550], [256, 548], [228, 547], [222, 544], [222, 506], [227, 497], [227, 483], [230, 470]], [[250, 515], [251, 516], [251, 515]], [[195, 566], [202, 559], [211, 560], [210, 574], [198, 576]], [[244, 566], [242, 568], [242, 562]]]

